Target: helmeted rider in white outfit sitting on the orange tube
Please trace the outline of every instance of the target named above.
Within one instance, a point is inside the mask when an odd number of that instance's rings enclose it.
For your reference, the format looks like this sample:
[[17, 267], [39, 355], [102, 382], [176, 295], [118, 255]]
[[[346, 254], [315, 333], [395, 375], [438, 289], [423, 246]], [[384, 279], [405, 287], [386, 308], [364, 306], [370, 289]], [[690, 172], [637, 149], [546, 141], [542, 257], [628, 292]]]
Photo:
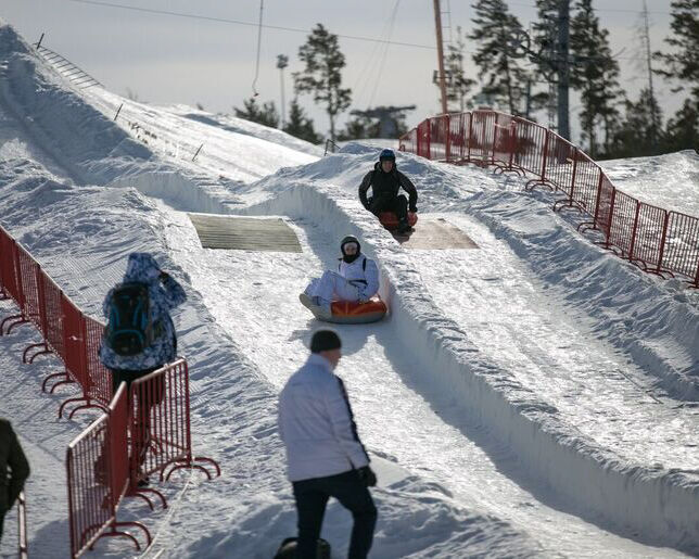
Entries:
[[340, 243], [342, 257], [338, 271], [326, 271], [315, 278], [298, 296], [308, 307], [320, 307], [330, 317], [333, 301], [358, 301], [366, 303], [379, 291], [379, 268], [371, 258], [361, 254], [361, 245], [356, 237], [347, 236]]

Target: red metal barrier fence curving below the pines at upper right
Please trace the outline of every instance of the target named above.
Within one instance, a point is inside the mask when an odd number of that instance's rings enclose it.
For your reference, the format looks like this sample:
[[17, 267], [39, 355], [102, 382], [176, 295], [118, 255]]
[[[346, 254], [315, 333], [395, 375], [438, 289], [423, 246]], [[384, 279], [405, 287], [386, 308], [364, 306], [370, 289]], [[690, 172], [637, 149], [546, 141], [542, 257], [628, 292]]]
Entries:
[[689, 278], [699, 288], [699, 218], [646, 204], [614, 188], [577, 147], [543, 126], [496, 111], [427, 118], [401, 137], [399, 149], [448, 163], [495, 165], [529, 173], [528, 189], [546, 185], [564, 198], [554, 209], [575, 207], [592, 221], [602, 245], [646, 271]]

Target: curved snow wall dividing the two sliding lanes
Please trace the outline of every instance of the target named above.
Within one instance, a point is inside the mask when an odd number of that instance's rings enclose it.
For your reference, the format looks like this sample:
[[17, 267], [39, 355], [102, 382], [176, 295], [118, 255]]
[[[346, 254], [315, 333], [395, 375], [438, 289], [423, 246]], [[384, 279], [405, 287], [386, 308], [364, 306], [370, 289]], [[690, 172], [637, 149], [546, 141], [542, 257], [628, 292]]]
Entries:
[[236, 213], [313, 216], [328, 230], [360, 237], [365, 252], [380, 263], [389, 319], [416, 358], [412, 373], [421, 385], [456, 397], [472, 423], [507, 444], [528, 475], [563, 496], [574, 513], [651, 545], [698, 554], [699, 482], [624, 462], [581, 437], [555, 408], [480, 355], [468, 333], [440, 313], [373, 216], [343, 194], [336, 187], [296, 182], [272, 200]]

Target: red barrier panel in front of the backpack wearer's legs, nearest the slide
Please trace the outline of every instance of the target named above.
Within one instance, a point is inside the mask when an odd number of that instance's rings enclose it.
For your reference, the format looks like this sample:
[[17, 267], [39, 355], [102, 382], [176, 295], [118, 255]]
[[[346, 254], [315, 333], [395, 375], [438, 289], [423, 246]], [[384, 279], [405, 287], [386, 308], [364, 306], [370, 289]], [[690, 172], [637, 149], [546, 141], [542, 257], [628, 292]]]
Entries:
[[[158, 472], [161, 479], [179, 468], [198, 468], [195, 461], [216, 468], [211, 458], [193, 457], [189, 417], [189, 371], [187, 361], [178, 359], [131, 383], [131, 485]], [[167, 468], [173, 466], [166, 474]]]

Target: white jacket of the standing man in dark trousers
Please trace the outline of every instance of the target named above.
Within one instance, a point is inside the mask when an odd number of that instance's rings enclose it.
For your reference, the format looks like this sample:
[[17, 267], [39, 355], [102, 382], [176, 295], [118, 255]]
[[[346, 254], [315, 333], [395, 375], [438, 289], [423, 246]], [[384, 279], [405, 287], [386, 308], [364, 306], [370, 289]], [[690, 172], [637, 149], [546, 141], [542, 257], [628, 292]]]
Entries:
[[281, 391], [278, 423], [292, 482], [369, 463], [344, 384], [318, 354], [312, 354]]

